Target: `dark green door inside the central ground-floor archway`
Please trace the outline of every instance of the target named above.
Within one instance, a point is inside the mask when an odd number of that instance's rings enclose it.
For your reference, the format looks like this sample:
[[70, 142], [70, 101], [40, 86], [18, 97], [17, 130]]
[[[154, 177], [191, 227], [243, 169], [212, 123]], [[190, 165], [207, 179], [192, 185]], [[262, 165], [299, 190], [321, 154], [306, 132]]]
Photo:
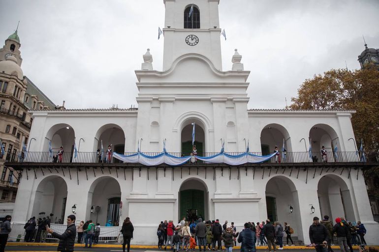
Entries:
[[180, 191], [180, 218], [186, 217], [188, 221], [204, 218], [204, 191], [184, 190]]

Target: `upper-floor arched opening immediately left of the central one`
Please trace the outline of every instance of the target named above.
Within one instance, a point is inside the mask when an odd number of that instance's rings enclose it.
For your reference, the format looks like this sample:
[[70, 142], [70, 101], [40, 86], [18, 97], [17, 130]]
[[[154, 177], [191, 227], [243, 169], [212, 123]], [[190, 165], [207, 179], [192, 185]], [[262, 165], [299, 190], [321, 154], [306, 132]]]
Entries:
[[[108, 146], [111, 145], [112, 152], [124, 154], [125, 152], [125, 133], [117, 124], [106, 124], [100, 127], [95, 136], [94, 152], [101, 151], [101, 142], [103, 147], [103, 160], [106, 162]], [[101, 157], [95, 157], [96, 162], [101, 162]], [[112, 163], [120, 163], [120, 160], [114, 159]]]

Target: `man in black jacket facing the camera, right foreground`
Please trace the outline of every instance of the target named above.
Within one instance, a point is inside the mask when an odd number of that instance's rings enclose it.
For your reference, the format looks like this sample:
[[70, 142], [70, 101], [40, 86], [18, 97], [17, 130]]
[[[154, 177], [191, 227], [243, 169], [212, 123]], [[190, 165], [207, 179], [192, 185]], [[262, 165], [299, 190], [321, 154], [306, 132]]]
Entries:
[[329, 240], [328, 230], [320, 224], [318, 217], [313, 218], [313, 224], [309, 227], [309, 239], [316, 252], [326, 252]]

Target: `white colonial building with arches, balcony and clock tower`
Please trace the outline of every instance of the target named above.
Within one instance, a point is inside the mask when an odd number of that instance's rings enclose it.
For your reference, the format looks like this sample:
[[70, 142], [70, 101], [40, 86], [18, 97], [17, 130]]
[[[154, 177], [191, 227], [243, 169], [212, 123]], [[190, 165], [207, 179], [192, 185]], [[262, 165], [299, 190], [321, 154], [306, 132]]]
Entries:
[[[133, 243], [156, 244], [160, 221], [177, 222], [189, 212], [234, 222], [239, 230], [269, 217], [291, 224], [294, 236], [307, 244], [313, 217], [329, 215], [361, 221], [366, 241], [375, 243], [379, 224], [362, 175], [370, 163], [356, 155], [353, 112], [248, 110], [250, 72], [242, 56], [236, 50], [231, 70], [221, 68], [219, 0], [164, 4], [163, 71], [154, 70], [148, 50], [135, 71], [138, 109], [32, 111], [27, 162], [8, 164], [23, 170], [12, 221], [24, 223], [40, 212], [63, 220], [75, 205], [77, 221], [104, 225], [130, 217]], [[98, 162], [101, 142], [104, 150], [112, 144], [120, 154], [135, 153], [140, 143], [141, 152], [153, 156], [166, 139], [168, 152], [188, 156], [192, 123], [198, 156], [219, 153], [221, 140], [233, 155], [246, 152], [247, 141], [257, 155], [274, 153], [276, 145], [282, 150], [283, 144], [286, 154], [281, 163], [243, 165]], [[52, 163], [49, 142], [54, 155], [63, 146], [62, 163]]]

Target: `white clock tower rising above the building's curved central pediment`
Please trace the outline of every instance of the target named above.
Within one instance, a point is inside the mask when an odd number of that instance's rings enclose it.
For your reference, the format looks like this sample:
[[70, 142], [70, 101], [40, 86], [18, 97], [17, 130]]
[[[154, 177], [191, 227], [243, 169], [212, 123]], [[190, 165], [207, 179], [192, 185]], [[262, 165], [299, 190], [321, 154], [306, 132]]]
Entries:
[[163, 71], [186, 54], [207, 57], [222, 70], [219, 21], [220, 0], [164, 0]]

